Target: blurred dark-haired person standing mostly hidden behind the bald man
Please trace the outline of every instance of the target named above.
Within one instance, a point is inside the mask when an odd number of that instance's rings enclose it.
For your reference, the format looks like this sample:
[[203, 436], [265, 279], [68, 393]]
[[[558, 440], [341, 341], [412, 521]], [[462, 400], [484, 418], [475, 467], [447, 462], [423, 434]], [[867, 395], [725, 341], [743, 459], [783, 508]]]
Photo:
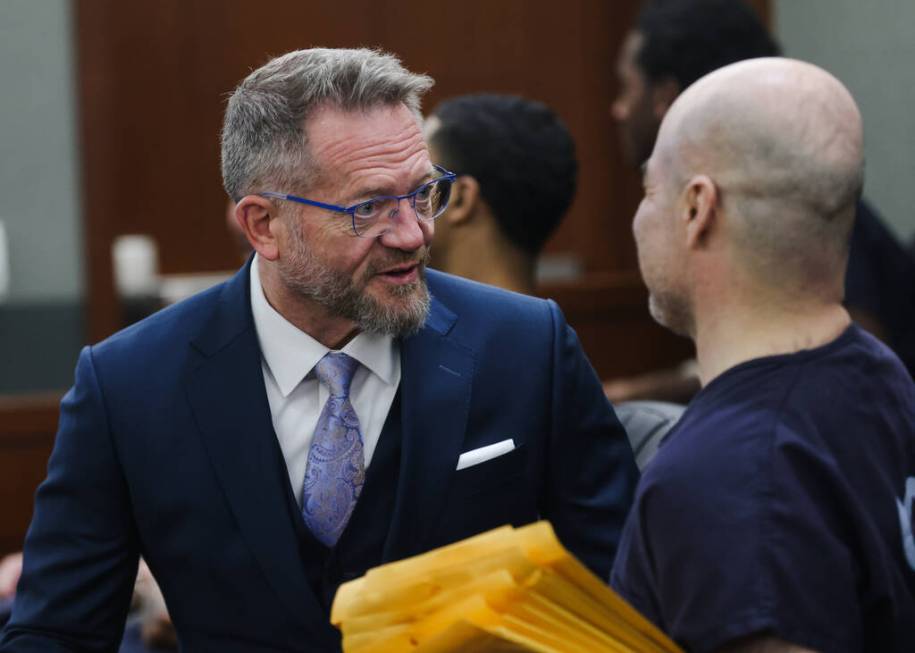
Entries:
[[[611, 114], [633, 166], [650, 156], [661, 119], [677, 96], [730, 63], [780, 53], [756, 13], [740, 0], [649, 0], [617, 61]], [[915, 262], [866, 202], [858, 202], [845, 277], [845, 306], [915, 370]], [[611, 400], [686, 401], [698, 389], [694, 367], [616, 379]]]

